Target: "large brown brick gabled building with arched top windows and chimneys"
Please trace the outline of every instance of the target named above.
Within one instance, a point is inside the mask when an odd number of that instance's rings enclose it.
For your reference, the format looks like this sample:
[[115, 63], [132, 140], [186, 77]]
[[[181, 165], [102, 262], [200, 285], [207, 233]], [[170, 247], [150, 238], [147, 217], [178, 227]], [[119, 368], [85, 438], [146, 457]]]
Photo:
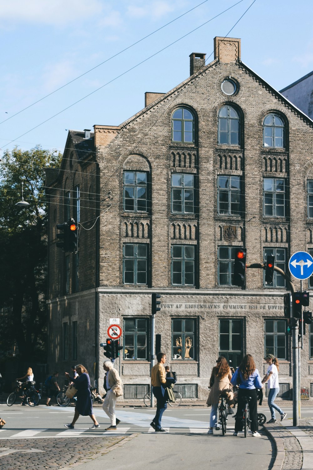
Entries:
[[[60, 172], [47, 173], [51, 370], [81, 362], [101, 385], [99, 343], [118, 318], [124, 397], [142, 397], [158, 292], [156, 348], [183, 397], [206, 398], [219, 354], [237, 366], [250, 352], [263, 374], [265, 351], [290, 397], [285, 281], [249, 269], [239, 289], [231, 271], [237, 246], [247, 262], [274, 254], [286, 272], [291, 253], [313, 251], [313, 122], [241, 61], [240, 39], [215, 38], [214, 51], [207, 65], [191, 54], [190, 77], [146, 93], [121, 125], [70, 131]], [[55, 246], [70, 216], [81, 224], [76, 254]], [[313, 330], [301, 359], [310, 388]]]

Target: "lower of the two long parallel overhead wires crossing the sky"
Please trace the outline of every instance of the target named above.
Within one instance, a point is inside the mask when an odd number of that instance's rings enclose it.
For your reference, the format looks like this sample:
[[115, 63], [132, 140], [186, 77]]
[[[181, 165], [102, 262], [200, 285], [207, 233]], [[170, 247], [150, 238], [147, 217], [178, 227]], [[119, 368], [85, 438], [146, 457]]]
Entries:
[[[50, 118], [47, 118], [45, 119], [45, 121], [42, 121], [40, 124], [38, 125], [35, 125], [34, 127], [32, 127], [31, 129], [29, 129], [28, 131], [24, 132], [23, 134], [19, 135], [18, 137], [16, 137], [15, 139], [13, 139], [12, 141], [8, 142], [8, 144], [6, 145], [10, 145], [12, 142], [15, 142], [17, 139], [20, 139], [21, 137], [23, 137], [24, 135], [30, 133], [31, 131], [33, 131], [34, 129], [37, 129], [38, 127], [40, 127], [41, 125], [45, 124], [46, 122], [50, 121], [51, 119], [55, 118], [56, 116], [58, 116], [59, 114], [63, 113], [64, 111], [68, 110], [69, 108], [71, 108], [72, 106], [75, 106], [75, 104], [83, 101], [84, 99], [88, 98], [89, 96], [91, 96], [92, 94], [98, 92], [99, 90], [101, 90], [102, 88], [104, 88], [105, 86], [109, 85], [110, 83], [114, 82], [115, 80], [117, 80], [117, 78], [121, 78], [123, 75], [125, 75], [126, 73], [136, 69], [139, 65], [145, 63], [146, 61], [148, 61], [149, 59], [151, 59], [152, 57], [154, 57], [155, 55], [158, 55], [160, 54], [160, 52], [163, 52], [164, 50], [168, 49], [168, 47], [171, 47], [173, 46], [173, 44], [176, 44], [176, 42], [182, 40], [183, 38], [189, 36], [191, 33], [193, 33], [194, 31], [197, 31], [199, 28], [202, 28], [202, 26], [208, 24], [210, 21], [213, 21], [215, 18], [217, 18], [218, 16], [221, 16], [223, 13], [225, 13], [226, 11], [230, 10], [231, 8], [235, 7], [236, 5], [238, 5], [239, 3], [241, 3], [243, 0], [239, 0], [237, 3], [235, 3], [234, 5], [232, 5], [231, 7], [227, 8], [226, 10], [222, 11], [221, 13], [219, 13], [218, 15], [214, 16], [213, 18], [210, 18], [209, 20], [207, 20], [205, 23], [203, 24], [200, 24], [200, 26], [198, 26], [197, 28], [194, 28], [193, 30], [189, 31], [188, 33], [184, 34], [183, 36], [181, 36], [179, 39], [176, 39], [175, 41], [173, 41], [172, 43], [168, 44], [168, 46], [166, 47], [163, 47], [162, 49], [160, 49], [159, 51], [155, 52], [154, 54], [150, 55], [149, 57], [147, 57], [146, 59], [144, 59], [143, 61], [137, 63], [136, 65], [134, 65], [133, 67], [130, 67], [130, 69], [128, 69], [127, 71], [121, 73], [120, 75], [118, 75], [117, 77], [115, 78], [112, 78], [112, 80], [109, 80], [107, 83], [105, 83], [104, 85], [102, 86], [99, 86], [99, 88], [97, 88], [96, 90], [93, 90], [91, 93], [88, 93], [86, 94], [83, 98], [80, 98], [79, 100], [77, 100], [76, 102], [70, 104], [69, 106], [67, 106], [66, 108], [64, 108], [63, 110], [57, 112], [56, 114], [54, 114], [53, 116], [51, 116]], [[254, 3], [256, 0], [254, 0], [252, 3]], [[241, 16], [242, 18], [242, 16]], [[239, 20], [238, 20], [239, 21]], [[231, 30], [230, 30], [231, 31]]]

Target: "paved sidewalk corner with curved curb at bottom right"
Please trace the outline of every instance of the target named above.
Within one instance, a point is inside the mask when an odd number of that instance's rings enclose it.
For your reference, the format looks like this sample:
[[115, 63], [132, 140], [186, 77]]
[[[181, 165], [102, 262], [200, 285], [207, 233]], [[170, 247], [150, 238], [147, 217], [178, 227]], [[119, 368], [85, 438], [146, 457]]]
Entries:
[[292, 420], [264, 424], [264, 429], [274, 439], [276, 458], [271, 470], [313, 469], [313, 421], [300, 419], [299, 426]]

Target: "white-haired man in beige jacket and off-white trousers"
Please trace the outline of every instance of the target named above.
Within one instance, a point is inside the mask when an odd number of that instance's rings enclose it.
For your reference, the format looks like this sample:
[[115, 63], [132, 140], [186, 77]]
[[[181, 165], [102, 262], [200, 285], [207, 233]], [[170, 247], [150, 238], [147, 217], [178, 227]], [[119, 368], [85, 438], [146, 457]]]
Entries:
[[121, 422], [121, 420], [117, 419], [115, 416], [115, 404], [117, 397], [120, 397], [123, 394], [122, 380], [110, 360], [106, 360], [103, 363], [103, 368], [107, 372], [107, 395], [104, 399], [102, 408], [107, 413], [111, 421], [111, 426], [106, 428], [106, 431], [114, 431], [117, 424]]

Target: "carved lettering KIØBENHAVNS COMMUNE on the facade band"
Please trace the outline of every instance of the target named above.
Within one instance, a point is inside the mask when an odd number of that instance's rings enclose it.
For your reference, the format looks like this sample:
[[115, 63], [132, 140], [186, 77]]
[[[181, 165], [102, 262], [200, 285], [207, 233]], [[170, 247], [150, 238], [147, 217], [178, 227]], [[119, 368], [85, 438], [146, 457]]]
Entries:
[[161, 308], [168, 310], [283, 310], [283, 305], [276, 304], [161, 304]]

